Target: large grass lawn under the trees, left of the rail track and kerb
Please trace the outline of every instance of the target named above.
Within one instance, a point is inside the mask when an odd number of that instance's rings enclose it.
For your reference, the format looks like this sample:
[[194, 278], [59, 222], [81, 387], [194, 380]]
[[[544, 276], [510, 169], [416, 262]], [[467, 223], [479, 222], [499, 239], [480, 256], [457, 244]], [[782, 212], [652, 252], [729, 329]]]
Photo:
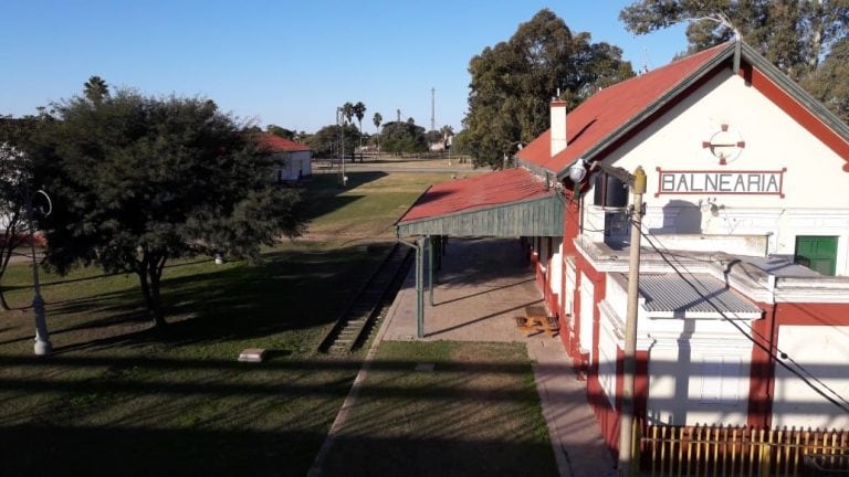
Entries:
[[[329, 176], [307, 187], [318, 239], [256, 266], [169, 264], [164, 332], [148, 328], [135, 276], [42, 274], [55, 353], [36, 359], [31, 269], [11, 266], [3, 285], [20, 309], [0, 314], [0, 475], [303, 476], [359, 369], [359, 354], [315, 350], [386, 251], [364, 245], [447, 178], [349, 177], [345, 190]], [[235, 361], [254, 347], [270, 359]]]

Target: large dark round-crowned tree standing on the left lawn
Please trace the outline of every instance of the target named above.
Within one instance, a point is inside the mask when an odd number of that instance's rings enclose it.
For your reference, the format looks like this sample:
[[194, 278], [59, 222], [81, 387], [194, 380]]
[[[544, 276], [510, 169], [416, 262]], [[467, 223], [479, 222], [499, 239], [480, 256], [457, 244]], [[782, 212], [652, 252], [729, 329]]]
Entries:
[[129, 91], [93, 104], [56, 105], [57, 121], [31, 146], [35, 177], [53, 197], [42, 223], [46, 265], [97, 264], [139, 277], [148, 314], [169, 259], [226, 253], [259, 259], [260, 246], [303, 231], [298, 193], [270, 180], [273, 157], [203, 98]]

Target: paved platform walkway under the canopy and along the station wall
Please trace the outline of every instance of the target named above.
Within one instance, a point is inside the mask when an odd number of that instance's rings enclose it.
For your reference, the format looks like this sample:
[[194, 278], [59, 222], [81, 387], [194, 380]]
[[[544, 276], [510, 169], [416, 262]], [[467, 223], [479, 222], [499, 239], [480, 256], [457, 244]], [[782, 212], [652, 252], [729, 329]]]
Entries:
[[[562, 476], [616, 475], [584, 384], [573, 372], [559, 338], [525, 338], [514, 316], [542, 303], [533, 274], [516, 240], [451, 240], [430, 306], [426, 293], [424, 339], [455, 341], [526, 341], [534, 378]], [[379, 339], [416, 336], [413, 274], [396, 297]]]

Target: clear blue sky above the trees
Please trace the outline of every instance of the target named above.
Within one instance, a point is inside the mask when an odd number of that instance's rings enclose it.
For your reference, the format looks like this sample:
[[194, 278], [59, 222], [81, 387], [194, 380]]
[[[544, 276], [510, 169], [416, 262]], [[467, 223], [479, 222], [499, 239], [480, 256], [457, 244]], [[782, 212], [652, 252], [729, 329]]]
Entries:
[[685, 49], [683, 25], [625, 31], [630, 1], [46, 1], [0, 2], [0, 114], [81, 93], [91, 75], [150, 95], [213, 99], [242, 120], [313, 132], [336, 106], [361, 100], [385, 121], [455, 130], [467, 109], [469, 60], [552, 9], [573, 32], [625, 51], [635, 68]]

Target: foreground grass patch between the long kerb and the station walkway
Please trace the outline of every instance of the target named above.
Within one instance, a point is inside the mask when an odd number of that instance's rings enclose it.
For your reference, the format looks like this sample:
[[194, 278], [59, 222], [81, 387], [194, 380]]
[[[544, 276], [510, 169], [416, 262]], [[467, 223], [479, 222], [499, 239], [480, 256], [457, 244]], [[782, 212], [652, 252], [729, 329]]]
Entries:
[[[417, 371], [421, 363], [433, 370]], [[324, 468], [339, 477], [557, 475], [524, 344], [384, 341]]]

